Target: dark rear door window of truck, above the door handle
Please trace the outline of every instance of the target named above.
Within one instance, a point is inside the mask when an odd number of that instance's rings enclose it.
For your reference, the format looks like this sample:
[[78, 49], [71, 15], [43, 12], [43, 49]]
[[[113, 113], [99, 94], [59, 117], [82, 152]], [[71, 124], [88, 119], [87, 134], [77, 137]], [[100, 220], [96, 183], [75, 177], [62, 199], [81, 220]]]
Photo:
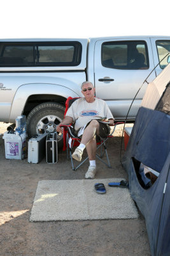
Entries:
[[148, 49], [145, 41], [104, 42], [101, 63], [106, 68], [147, 69]]

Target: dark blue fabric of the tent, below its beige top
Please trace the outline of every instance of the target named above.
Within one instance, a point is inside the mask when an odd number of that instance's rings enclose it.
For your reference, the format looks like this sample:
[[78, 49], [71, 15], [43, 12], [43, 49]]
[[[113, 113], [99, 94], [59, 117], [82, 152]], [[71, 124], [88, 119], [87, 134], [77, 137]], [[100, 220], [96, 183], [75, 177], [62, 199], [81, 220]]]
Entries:
[[[169, 152], [170, 116], [160, 111], [140, 108], [122, 164], [129, 175], [131, 196], [145, 217], [150, 249], [154, 256], [170, 255], [170, 228], [167, 229], [170, 221]], [[139, 183], [140, 163], [160, 173], [158, 179], [149, 189], [144, 189]], [[166, 194], [164, 194], [166, 182], [167, 188]], [[161, 254], [164, 250], [167, 254]], [[160, 253], [156, 251], [160, 251]]]

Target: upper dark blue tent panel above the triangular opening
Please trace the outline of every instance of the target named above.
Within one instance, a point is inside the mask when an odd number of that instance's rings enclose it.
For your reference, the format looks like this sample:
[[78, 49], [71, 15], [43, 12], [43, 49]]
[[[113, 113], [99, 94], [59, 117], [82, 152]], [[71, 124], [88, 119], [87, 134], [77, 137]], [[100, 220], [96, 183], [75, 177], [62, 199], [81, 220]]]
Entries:
[[131, 137], [127, 145], [128, 156], [131, 154], [146, 166], [160, 172], [170, 148], [170, 116], [141, 107]]

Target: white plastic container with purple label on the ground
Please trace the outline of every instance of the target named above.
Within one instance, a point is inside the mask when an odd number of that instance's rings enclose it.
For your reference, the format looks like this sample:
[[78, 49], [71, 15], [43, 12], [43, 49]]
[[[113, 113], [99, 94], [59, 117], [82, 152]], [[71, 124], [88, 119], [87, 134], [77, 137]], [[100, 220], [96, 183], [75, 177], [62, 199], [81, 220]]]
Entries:
[[24, 159], [26, 152], [26, 132], [18, 135], [4, 132], [4, 148], [6, 159]]

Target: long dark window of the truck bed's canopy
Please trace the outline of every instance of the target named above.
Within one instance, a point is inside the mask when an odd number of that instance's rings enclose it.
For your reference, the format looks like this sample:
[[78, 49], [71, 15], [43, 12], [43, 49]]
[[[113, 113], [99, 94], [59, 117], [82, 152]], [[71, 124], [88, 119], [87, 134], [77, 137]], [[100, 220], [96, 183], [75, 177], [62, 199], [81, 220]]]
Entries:
[[3, 42], [0, 67], [66, 67], [81, 61], [80, 42]]

